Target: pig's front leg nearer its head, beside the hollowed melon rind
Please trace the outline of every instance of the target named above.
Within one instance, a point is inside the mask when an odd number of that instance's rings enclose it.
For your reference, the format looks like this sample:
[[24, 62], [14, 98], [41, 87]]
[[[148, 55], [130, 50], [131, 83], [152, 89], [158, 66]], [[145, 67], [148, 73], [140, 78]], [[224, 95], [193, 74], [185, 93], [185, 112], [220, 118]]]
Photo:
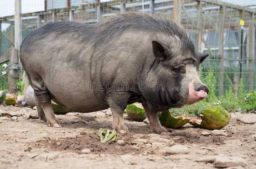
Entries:
[[146, 116], [149, 119], [149, 125], [152, 132], [164, 135], [168, 134], [168, 131], [160, 124], [157, 112], [149, 110], [146, 106], [144, 106], [144, 109], [146, 111]]

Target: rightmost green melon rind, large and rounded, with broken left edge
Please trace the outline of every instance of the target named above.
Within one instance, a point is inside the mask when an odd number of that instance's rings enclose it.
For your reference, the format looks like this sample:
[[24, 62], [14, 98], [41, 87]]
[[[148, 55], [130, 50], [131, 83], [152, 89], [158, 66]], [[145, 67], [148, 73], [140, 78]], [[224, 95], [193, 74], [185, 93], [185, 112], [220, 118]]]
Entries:
[[195, 127], [200, 127], [209, 130], [219, 130], [227, 126], [231, 115], [225, 108], [220, 106], [214, 106], [206, 108], [203, 114], [200, 115], [202, 121], [201, 124], [195, 121], [190, 121], [189, 123]]

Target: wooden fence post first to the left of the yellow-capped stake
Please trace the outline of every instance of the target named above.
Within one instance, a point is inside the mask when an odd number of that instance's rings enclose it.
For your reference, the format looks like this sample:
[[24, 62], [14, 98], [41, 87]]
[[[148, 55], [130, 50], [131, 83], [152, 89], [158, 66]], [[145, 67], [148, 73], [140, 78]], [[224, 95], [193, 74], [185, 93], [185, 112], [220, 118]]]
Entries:
[[225, 6], [219, 8], [219, 58], [220, 58], [220, 77], [219, 77], [219, 96], [222, 96], [224, 85], [224, 22], [225, 22]]

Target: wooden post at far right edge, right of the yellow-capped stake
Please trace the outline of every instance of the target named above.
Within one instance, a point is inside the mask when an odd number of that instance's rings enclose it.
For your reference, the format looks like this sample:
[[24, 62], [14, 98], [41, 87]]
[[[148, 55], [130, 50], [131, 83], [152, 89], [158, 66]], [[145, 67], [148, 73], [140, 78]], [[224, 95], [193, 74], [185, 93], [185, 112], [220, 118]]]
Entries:
[[249, 20], [249, 27], [248, 27], [248, 34], [247, 34], [247, 68], [249, 73], [249, 91], [253, 90], [253, 84], [254, 84], [254, 76], [253, 71], [255, 71], [254, 68], [254, 59], [255, 59], [255, 22], [254, 22], [254, 13], [250, 14], [250, 20]]

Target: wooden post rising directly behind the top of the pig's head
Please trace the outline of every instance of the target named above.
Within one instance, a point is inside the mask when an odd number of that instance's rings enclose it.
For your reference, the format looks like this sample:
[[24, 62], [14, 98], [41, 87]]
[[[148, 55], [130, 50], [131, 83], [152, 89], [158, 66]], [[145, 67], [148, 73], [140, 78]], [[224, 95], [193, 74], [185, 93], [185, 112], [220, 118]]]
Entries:
[[197, 25], [197, 38], [196, 38], [196, 45], [197, 45], [197, 52], [202, 52], [202, 7], [201, 1], [197, 1], [197, 11], [198, 11], [198, 25]]

